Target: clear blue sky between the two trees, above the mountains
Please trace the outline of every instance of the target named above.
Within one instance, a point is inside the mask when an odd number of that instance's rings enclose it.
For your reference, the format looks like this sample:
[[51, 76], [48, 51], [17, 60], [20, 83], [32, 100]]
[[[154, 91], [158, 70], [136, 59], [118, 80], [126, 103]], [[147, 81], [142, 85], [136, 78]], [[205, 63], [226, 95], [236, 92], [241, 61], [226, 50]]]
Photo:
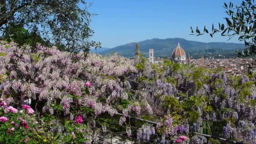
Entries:
[[[102, 47], [113, 48], [152, 38], [180, 37], [200, 42], [227, 42], [228, 37], [216, 34], [189, 35], [190, 26], [225, 23], [227, 14], [222, 7], [230, 0], [89, 0], [88, 9], [97, 13], [92, 17], [91, 28], [95, 31], [91, 40], [101, 42]], [[232, 0], [240, 4], [241, 0]], [[238, 43], [237, 38], [228, 42]]]

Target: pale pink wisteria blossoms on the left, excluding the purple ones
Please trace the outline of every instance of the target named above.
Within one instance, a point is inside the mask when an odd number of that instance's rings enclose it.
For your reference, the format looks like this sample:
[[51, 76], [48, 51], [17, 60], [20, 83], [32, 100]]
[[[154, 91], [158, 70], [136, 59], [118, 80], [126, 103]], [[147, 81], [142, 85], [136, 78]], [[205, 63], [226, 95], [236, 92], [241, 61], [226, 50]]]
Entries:
[[[60, 100], [64, 115], [72, 114], [70, 107], [74, 103], [96, 109], [96, 115], [101, 112], [113, 115], [116, 110], [112, 102], [119, 98], [127, 99], [125, 90], [130, 86], [127, 81], [112, 80], [110, 77], [136, 72], [133, 61], [117, 55], [103, 57], [92, 54], [86, 60], [73, 62], [70, 53], [38, 47], [37, 53], [32, 53], [31, 63], [29, 53], [18, 49], [17, 53], [22, 53], [18, 58], [12, 53], [16, 45], [6, 45], [0, 46], [1, 53], [5, 54], [0, 56], [0, 98], [8, 104], [29, 98], [32, 104], [39, 100], [43, 102], [43, 112], [51, 114], [52, 104]], [[44, 53], [48, 56], [41, 57]], [[89, 93], [83, 94], [84, 89]], [[75, 101], [70, 94], [80, 99]], [[105, 104], [97, 101], [101, 97], [105, 98]]]

